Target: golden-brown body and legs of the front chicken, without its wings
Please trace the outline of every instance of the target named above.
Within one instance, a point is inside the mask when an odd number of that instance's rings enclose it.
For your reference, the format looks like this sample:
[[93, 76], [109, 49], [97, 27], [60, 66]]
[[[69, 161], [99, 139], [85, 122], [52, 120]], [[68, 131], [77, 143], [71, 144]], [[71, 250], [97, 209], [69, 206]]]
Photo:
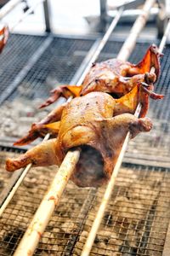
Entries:
[[[135, 137], [140, 131], [150, 131], [152, 127], [150, 119], [137, 119], [130, 113], [113, 117], [115, 106], [116, 101], [102, 92], [73, 99], [63, 109], [57, 126], [58, 137], [31, 148], [18, 159], [8, 159], [6, 169], [14, 172], [29, 163], [33, 166], [60, 165], [68, 150], [82, 148], [71, 180], [81, 187], [98, 187], [106, 183], [111, 177], [127, 131]], [[92, 150], [93, 154], [88, 154], [88, 150]], [[98, 170], [94, 165], [89, 169], [88, 164], [82, 163], [87, 156], [90, 161], [96, 162], [96, 154], [101, 163]]]

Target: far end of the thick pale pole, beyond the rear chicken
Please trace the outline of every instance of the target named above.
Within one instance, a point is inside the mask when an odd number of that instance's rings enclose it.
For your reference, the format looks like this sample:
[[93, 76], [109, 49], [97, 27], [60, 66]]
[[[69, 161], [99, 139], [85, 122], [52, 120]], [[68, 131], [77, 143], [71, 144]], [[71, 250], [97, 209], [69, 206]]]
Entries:
[[156, 0], [146, 0], [144, 3], [144, 9], [143, 14], [139, 15], [137, 20], [135, 21], [133, 28], [131, 29], [125, 43], [122, 46], [121, 51], [117, 55], [117, 59], [120, 60], [127, 60], [129, 55], [131, 54], [132, 49], [134, 48], [136, 44], [136, 40], [139, 37], [139, 33], [143, 29], [146, 20], [148, 19], [150, 15], [150, 9], [153, 6], [153, 4], [156, 2]]

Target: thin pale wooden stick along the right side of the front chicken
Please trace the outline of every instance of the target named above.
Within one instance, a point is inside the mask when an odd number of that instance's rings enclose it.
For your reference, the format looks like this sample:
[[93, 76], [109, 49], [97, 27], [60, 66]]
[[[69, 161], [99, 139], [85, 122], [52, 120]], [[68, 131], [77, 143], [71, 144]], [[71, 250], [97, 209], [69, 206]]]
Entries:
[[[160, 53], [161, 53], [161, 51], [162, 51], [162, 49], [163, 49], [163, 47], [164, 47], [164, 45], [166, 44], [166, 41], [167, 41], [167, 35], [168, 35], [169, 29], [170, 29], [170, 26], [168, 26], [168, 25], [167, 25], [167, 29], [166, 29], [166, 32], [165, 32], [165, 37], [163, 37], [162, 40], [161, 40], [161, 44], [160, 44], [160, 47], [159, 47]], [[135, 26], [135, 24], [134, 24], [134, 26]], [[130, 42], [129, 38], [127, 38], [127, 40], [128, 40], [128, 42]], [[132, 45], [134, 45], [133, 42], [132, 42]], [[127, 51], [127, 49], [125, 47], [128, 48], [128, 51]], [[126, 42], [125, 42], [123, 44], [123, 46], [122, 46], [122, 49], [125, 52], [127, 52], [126, 56], [129, 56], [133, 48], [129, 48], [129, 44], [126, 44]], [[122, 49], [121, 49], [121, 55], [122, 55], [122, 59], [124, 60]], [[153, 69], [151, 68], [150, 72], [153, 72]], [[139, 103], [139, 105], [138, 105], [138, 107], [137, 107], [137, 109], [136, 109], [136, 111], [134, 113], [134, 116], [139, 117], [140, 109], [141, 109], [141, 104]], [[95, 239], [96, 234], [97, 234], [97, 232], [99, 230], [99, 226], [100, 226], [102, 218], [104, 216], [105, 209], [107, 207], [108, 201], [111, 198], [111, 193], [112, 193], [112, 190], [113, 190], [115, 182], [116, 182], [116, 177], [117, 177], [118, 172], [120, 170], [120, 167], [122, 165], [122, 159], [123, 159], [123, 156], [124, 156], [124, 154], [126, 152], [129, 138], [130, 138], [130, 132], [127, 132], [127, 137], [125, 138], [125, 141], [124, 141], [124, 143], [122, 145], [121, 153], [119, 154], [119, 157], [118, 157], [118, 159], [116, 161], [116, 166], [114, 167], [114, 170], [113, 170], [113, 172], [111, 174], [111, 180], [109, 181], [108, 186], [105, 189], [105, 195], [103, 196], [102, 202], [101, 202], [101, 204], [99, 206], [99, 210], [98, 210], [98, 212], [96, 214], [96, 217], [94, 219], [94, 223], [93, 223], [92, 228], [91, 228], [91, 230], [89, 232], [88, 239], [87, 239], [87, 241], [86, 241], [86, 243], [85, 243], [85, 245], [84, 245], [84, 247], [82, 249], [81, 256], [88, 256], [90, 251], [91, 251], [91, 248], [93, 247], [94, 239]]]

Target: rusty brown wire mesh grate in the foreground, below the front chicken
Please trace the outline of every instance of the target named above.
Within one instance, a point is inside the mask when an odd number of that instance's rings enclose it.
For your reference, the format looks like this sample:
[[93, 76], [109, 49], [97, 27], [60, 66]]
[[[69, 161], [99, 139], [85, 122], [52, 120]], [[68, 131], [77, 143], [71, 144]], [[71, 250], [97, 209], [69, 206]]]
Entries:
[[[2, 177], [6, 172], [2, 163], [0, 167]], [[31, 169], [14, 195], [0, 219], [0, 255], [14, 253], [54, 168]], [[122, 167], [91, 255], [162, 255], [170, 220], [169, 171]], [[104, 189], [80, 189], [69, 183], [35, 255], [80, 255]]]

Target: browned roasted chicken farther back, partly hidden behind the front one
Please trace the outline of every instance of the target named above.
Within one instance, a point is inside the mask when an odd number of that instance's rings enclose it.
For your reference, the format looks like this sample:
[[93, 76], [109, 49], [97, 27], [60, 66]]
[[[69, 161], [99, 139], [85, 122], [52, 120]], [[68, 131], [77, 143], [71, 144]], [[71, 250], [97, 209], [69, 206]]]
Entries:
[[[94, 63], [82, 82], [82, 85], [60, 85], [51, 91], [52, 96], [40, 106], [47, 107], [59, 96], [84, 96], [92, 91], [111, 93], [115, 98], [124, 96], [137, 83], [145, 83], [153, 87], [160, 73], [160, 53], [155, 44], [150, 45], [142, 61], [134, 65], [128, 61], [111, 59]], [[151, 67], [155, 73], [150, 73]]]

